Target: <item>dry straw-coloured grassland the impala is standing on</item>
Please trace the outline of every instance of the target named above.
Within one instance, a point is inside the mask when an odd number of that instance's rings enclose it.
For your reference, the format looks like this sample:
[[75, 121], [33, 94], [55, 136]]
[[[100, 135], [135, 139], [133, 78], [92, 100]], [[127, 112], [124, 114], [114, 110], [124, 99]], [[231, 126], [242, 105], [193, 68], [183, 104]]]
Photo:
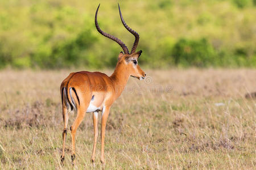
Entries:
[[[0, 72], [1, 169], [61, 169], [61, 71]], [[110, 74], [111, 71], [106, 71]], [[254, 169], [256, 70], [146, 70], [115, 101], [106, 169]], [[75, 116], [69, 119], [69, 126]], [[91, 168], [92, 113], [77, 131], [77, 167]], [[96, 166], [100, 164], [100, 137]], [[68, 131], [64, 168], [71, 165]]]

